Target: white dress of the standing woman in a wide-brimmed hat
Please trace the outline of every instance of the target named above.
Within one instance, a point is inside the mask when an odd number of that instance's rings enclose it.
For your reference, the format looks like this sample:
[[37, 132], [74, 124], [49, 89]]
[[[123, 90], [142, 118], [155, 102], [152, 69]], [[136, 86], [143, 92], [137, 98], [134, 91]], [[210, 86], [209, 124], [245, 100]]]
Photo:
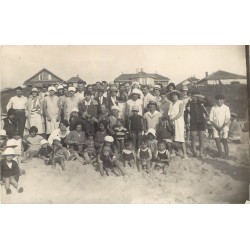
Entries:
[[[170, 103], [168, 115], [171, 118], [175, 117], [179, 114], [180, 105], [183, 105], [181, 100], [178, 100], [176, 103]], [[180, 118], [174, 121], [174, 128], [175, 128], [175, 137], [174, 140], [177, 142], [185, 142], [184, 137], [184, 116], [182, 115]]]

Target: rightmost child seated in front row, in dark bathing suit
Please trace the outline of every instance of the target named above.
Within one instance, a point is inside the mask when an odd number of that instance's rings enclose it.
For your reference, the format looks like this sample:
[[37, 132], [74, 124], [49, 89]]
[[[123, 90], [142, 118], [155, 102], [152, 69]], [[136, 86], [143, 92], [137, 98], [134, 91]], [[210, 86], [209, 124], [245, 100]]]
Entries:
[[152, 162], [152, 170], [159, 167], [162, 169], [163, 174], [166, 174], [166, 168], [169, 166], [170, 162], [170, 153], [166, 149], [166, 142], [161, 140], [157, 144], [158, 150], [154, 155], [154, 159]]

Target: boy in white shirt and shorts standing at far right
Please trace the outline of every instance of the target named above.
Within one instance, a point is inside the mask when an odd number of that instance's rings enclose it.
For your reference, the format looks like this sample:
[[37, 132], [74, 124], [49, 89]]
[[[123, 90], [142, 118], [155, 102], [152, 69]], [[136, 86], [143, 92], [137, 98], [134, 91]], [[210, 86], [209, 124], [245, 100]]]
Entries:
[[230, 122], [230, 109], [224, 104], [225, 97], [224, 95], [215, 96], [216, 105], [214, 105], [209, 114], [209, 120], [213, 125], [213, 137], [216, 142], [218, 149], [219, 157], [222, 158], [222, 148], [221, 142], [224, 146], [225, 159], [229, 158], [229, 149], [228, 149], [228, 131], [229, 131], [229, 122]]

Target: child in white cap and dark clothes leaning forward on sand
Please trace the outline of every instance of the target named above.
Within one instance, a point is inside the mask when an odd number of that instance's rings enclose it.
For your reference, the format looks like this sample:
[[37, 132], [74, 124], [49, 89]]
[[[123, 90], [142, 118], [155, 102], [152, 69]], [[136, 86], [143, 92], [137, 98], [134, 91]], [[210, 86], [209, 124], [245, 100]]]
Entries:
[[[114, 138], [112, 136], [106, 136], [104, 141], [104, 144], [102, 145], [100, 149], [100, 154], [98, 155], [98, 165], [99, 165], [99, 171], [101, 176], [104, 176], [104, 171], [108, 175], [106, 168], [108, 168], [108, 164], [111, 164], [111, 169], [113, 170], [112, 172], [115, 175], [122, 175], [125, 176], [127, 175], [125, 170], [123, 169], [122, 163], [118, 160], [118, 152], [117, 148], [115, 147], [114, 143]], [[105, 148], [106, 146], [106, 148]], [[107, 146], [110, 148], [107, 148]], [[104, 155], [104, 149], [107, 151], [105, 152]], [[111, 160], [109, 160], [109, 158]], [[104, 161], [103, 161], [104, 159]], [[108, 170], [109, 171], [109, 170]], [[109, 171], [110, 172], [110, 171]]]

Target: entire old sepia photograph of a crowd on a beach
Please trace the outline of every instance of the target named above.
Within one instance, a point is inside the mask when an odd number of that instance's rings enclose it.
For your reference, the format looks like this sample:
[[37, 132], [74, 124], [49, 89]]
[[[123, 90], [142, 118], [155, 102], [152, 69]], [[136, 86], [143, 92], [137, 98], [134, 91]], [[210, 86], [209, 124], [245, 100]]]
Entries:
[[8, 45], [0, 57], [1, 203], [249, 200], [248, 46]]

